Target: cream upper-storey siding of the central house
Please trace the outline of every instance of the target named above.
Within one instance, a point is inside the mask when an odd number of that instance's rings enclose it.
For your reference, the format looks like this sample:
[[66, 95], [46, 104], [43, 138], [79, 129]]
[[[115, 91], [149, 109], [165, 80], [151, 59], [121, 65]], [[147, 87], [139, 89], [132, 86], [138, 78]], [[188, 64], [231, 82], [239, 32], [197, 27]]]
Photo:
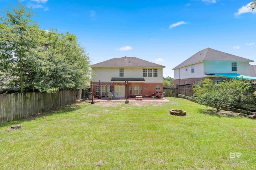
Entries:
[[[121, 68], [121, 67], [120, 67]], [[143, 68], [124, 68], [124, 78], [142, 78], [142, 69]], [[144, 77], [145, 82], [163, 82], [163, 69], [158, 69], [158, 76], [153, 76], [152, 68], [152, 77]], [[111, 82], [112, 77], [119, 77], [119, 68], [111, 67], [94, 67], [92, 68], [92, 81], [93, 82]]]

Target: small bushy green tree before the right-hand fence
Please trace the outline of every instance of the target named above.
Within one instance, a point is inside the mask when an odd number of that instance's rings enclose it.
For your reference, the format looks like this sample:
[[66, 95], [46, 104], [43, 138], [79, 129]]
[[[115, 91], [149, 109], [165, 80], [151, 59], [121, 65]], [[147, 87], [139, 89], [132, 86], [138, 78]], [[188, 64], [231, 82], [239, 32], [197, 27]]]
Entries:
[[217, 111], [220, 111], [225, 103], [244, 102], [247, 99], [244, 92], [249, 86], [242, 79], [215, 84], [211, 79], [206, 78], [202, 84], [203, 87], [195, 85], [194, 96], [197, 96], [199, 104], [214, 105]]

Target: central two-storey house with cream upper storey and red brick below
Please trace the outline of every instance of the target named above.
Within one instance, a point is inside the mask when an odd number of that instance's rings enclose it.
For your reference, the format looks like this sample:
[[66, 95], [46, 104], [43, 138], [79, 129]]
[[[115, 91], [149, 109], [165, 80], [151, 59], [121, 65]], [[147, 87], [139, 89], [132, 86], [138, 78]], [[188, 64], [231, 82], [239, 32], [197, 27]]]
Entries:
[[116, 98], [125, 98], [126, 92], [130, 98], [162, 92], [164, 67], [136, 57], [114, 58], [93, 64], [94, 96], [106, 96], [111, 90]]

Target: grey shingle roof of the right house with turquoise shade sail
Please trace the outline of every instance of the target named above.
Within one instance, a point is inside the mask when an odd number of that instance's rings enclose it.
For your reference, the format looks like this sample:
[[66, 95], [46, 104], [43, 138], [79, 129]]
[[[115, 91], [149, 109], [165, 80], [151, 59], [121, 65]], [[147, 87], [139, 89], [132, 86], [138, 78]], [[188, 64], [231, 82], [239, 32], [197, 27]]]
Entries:
[[236, 55], [224, 53], [221, 51], [217, 51], [214, 49], [204, 49], [202, 51], [198, 51], [196, 54], [192, 55], [187, 60], [180, 63], [178, 66], [172, 68], [172, 70], [175, 70], [177, 68], [181, 68], [184, 66], [188, 66], [195, 63], [200, 63], [202, 61], [249, 61], [253, 62], [252, 60], [245, 59], [242, 57], [238, 57]]

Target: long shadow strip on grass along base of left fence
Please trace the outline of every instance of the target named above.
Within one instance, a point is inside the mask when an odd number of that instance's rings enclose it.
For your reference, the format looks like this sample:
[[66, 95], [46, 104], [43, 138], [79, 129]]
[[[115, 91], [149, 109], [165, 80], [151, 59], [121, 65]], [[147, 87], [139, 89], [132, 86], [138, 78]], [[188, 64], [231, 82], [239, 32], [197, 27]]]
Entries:
[[31, 115], [28, 117], [23, 117], [20, 119], [15, 119], [13, 121], [8, 121], [8, 122], [0, 124], [0, 127], [8, 127], [8, 126], [12, 126], [12, 125], [22, 124], [24, 122], [35, 120], [38, 117], [47, 117], [47, 116], [52, 116], [52, 115], [67, 114], [68, 112], [76, 111], [76, 110], [80, 109], [81, 107], [84, 108], [84, 107], [90, 106], [90, 104], [81, 106], [79, 103], [82, 103], [82, 102], [84, 102], [84, 100], [66, 104], [64, 106], [56, 107], [56, 108], [50, 109], [48, 111], [41, 111], [40, 113]]

